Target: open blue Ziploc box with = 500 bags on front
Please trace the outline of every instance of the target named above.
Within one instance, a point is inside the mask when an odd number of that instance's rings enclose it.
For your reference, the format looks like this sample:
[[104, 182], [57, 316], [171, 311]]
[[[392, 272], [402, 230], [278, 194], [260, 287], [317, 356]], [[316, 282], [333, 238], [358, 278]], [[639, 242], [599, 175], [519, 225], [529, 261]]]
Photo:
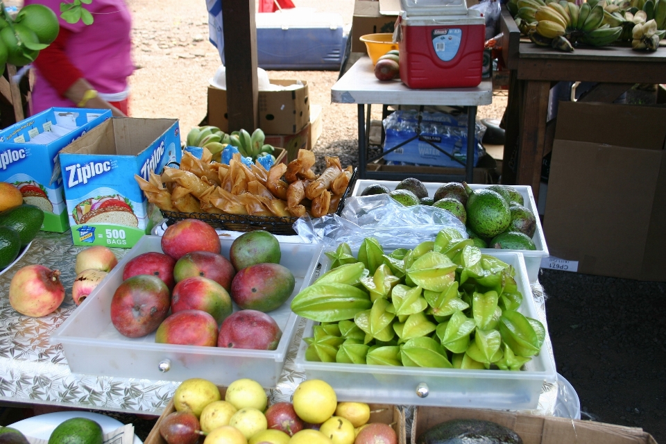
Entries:
[[148, 180], [180, 157], [178, 119], [114, 117], [60, 151], [74, 245], [131, 248], [150, 233], [162, 215], [135, 174]]

